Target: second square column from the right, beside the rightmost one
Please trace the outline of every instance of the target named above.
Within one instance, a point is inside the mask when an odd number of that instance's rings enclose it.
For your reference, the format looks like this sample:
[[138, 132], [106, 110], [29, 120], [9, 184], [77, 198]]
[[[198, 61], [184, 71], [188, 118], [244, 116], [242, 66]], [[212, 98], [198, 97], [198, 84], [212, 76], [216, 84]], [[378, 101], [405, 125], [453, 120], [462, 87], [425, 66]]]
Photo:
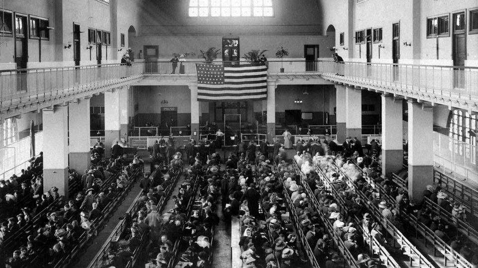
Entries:
[[382, 95], [382, 173], [391, 176], [402, 169], [402, 99]]

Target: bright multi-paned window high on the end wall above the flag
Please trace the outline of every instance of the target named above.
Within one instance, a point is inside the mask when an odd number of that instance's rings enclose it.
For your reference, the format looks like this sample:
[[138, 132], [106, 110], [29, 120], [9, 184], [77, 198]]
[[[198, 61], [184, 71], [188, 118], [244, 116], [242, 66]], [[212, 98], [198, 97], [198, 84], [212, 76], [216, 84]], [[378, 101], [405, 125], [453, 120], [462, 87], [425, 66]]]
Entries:
[[272, 0], [189, 0], [190, 17], [271, 17]]

